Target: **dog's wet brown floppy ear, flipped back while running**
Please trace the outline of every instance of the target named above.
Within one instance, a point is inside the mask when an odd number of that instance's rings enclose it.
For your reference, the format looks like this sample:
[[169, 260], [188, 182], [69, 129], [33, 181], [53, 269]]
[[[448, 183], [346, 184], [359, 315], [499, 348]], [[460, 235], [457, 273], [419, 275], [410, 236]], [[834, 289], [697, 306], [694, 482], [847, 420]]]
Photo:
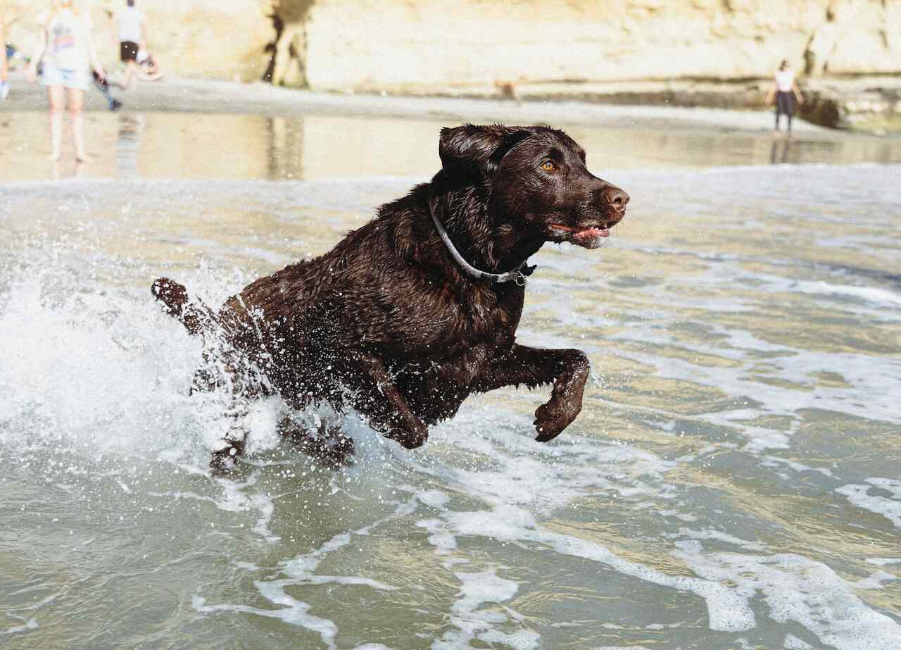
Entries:
[[441, 169], [457, 177], [491, 176], [504, 154], [528, 134], [522, 127], [500, 124], [443, 128], [438, 142]]

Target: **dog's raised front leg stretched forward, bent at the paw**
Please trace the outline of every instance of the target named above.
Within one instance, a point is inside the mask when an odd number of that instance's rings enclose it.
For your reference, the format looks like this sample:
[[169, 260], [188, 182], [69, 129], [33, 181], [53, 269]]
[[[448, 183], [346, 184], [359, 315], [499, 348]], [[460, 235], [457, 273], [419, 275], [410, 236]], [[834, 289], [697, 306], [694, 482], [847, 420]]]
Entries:
[[476, 390], [487, 392], [502, 386], [525, 384], [529, 388], [553, 382], [551, 399], [535, 410], [535, 437], [546, 443], [560, 435], [582, 410], [582, 393], [588, 379], [588, 359], [579, 350], [539, 350], [514, 345], [478, 379]]

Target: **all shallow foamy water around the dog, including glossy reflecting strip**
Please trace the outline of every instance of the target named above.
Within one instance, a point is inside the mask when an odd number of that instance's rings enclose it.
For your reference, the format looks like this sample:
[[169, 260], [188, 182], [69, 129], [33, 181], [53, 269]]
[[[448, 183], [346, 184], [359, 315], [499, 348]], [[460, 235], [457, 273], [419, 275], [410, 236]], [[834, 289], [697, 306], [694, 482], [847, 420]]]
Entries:
[[0, 136], [0, 645], [901, 645], [897, 143], [569, 129], [633, 200], [532, 259], [520, 341], [593, 368], [560, 438], [505, 389], [414, 452], [342, 417], [335, 472], [268, 402], [217, 480], [221, 405], [150, 281], [218, 305], [327, 250], [437, 169], [440, 124], [92, 120], [88, 169]]

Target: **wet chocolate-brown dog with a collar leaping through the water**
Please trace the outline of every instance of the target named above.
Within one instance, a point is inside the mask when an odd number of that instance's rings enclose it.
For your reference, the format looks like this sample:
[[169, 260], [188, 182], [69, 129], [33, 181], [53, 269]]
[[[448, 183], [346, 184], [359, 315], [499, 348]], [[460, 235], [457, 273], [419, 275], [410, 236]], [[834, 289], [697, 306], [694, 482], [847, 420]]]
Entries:
[[[592, 176], [585, 151], [543, 126], [441, 129], [441, 171], [381, 206], [330, 252], [252, 282], [218, 315], [184, 287], [153, 294], [207, 346], [195, 388], [227, 385], [238, 403], [278, 394], [288, 407], [352, 407], [407, 448], [473, 392], [552, 383], [535, 411], [536, 440], [582, 408], [588, 361], [578, 350], [516, 343], [526, 261], [545, 242], [596, 248], [628, 195]], [[211, 371], [209, 368], [218, 368]], [[307, 451], [341, 456], [286, 427]], [[224, 469], [241, 435], [214, 456]]]

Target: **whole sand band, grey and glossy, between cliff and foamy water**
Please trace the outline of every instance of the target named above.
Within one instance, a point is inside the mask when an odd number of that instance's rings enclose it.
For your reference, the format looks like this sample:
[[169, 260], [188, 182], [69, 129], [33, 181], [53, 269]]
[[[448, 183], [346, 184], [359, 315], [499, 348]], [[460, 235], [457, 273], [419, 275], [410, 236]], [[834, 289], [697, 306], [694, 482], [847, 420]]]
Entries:
[[901, 140], [796, 123], [773, 133], [768, 112], [577, 102], [341, 96], [265, 84], [164, 79], [139, 84], [118, 113], [87, 93], [90, 165], [68, 136], [50, 163], [46, 99], [14, 79], [0, 103], [5, 181], [66, 179], [427, 178], [440, 166], [441, 126], [553, 124], [589, 151], [589, 166], [672, 169], [784, 163], [901, 162]]

